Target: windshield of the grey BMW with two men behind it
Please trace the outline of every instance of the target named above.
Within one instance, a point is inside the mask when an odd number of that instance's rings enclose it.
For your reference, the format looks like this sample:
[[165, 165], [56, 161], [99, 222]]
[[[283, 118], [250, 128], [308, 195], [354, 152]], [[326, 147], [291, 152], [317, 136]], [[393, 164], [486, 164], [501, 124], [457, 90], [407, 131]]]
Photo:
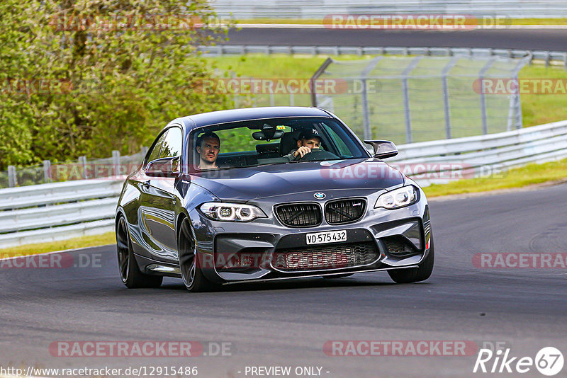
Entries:
[[196, 170], [242, 168], [369, 156], [329, 118], [278, 118], [203, 127], [191, 134]]

